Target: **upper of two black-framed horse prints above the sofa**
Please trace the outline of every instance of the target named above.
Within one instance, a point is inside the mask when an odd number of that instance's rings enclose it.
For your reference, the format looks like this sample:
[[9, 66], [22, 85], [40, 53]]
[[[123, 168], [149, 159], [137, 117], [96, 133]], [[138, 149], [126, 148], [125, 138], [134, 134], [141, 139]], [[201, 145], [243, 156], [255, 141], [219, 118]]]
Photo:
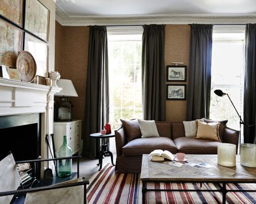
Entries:
[[167, 82], [186, 82], [187, 66], [167, 66]]

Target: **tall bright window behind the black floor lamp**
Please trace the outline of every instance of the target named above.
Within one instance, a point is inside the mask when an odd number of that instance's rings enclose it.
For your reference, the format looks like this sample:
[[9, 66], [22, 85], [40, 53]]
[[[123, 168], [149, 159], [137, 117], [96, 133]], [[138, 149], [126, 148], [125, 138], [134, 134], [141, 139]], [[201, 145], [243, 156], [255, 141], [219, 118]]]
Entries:
[[217, 96], [220, 89], [228, 93], [242, 116], [244, 90], [244, 26], [213, 26], [212, 90], [210, 118], [228, 119], [228, 127], [239, 130], [239, 117], [228, 96]]

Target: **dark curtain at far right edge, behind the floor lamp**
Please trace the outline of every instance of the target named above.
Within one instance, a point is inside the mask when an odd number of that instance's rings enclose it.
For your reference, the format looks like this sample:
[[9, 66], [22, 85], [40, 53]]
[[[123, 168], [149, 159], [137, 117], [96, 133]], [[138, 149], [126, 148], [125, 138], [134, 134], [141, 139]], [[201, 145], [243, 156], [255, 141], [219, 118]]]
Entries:
[[[256, 144], [256, 24], [246, 25], [246, 70], [244, 76], [244, 143]], [[247, 127], [247, 125], [252, 125]]]

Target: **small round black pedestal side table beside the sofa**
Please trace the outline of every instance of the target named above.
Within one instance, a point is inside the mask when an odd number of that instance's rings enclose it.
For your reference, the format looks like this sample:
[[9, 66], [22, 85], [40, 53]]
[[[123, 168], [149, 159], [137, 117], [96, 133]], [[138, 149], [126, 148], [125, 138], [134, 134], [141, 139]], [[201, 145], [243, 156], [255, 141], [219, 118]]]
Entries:
[[99, 151], [99, 163], [97, 163], [97, 165], [99, 166], [99, 171], [101, 171], [101, 168], [102, 168], [102, 159], [104, 155], [110, 155], [111, 163], [113, 166], [115, 166], [113, 162], [113, 154], [112, 152], [109, 151], [109, 146], [105, 144], [105, 138], [113, 138], [115, 136], [115, 133], [110, 133], [107, 135], [101, 135], [101, 133], [93, 133], [90, 136], [96, 139], [101, 139], [101, 150]]

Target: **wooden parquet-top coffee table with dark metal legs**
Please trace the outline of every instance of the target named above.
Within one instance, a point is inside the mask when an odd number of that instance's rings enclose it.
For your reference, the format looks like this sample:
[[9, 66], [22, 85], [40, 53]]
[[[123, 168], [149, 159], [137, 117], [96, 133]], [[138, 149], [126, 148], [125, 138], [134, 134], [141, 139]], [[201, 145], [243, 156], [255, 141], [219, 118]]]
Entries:
[[[188, 163], [181, 167], [170, 166], [164, 162], [152, 162], [147, 154], [142, 156], [141, 181], [142, 203], [146, 201], [147, 191], [208, 191], [221, 192], [222, 203], [226, 202], [228, 192], [256, 192], [255, 190], [226, 189], [227, 183], [256, 183], [256, 168], [244, 167], [240, 164], [240, 156], [236, 157], [236, 167], [218, 165], [217, 155], [186, 155]], [[191, 167], [191, 163], [207, 163], [210, 168]], [[219, 189], [147, 189], [147, 182], [212, 182]]]

